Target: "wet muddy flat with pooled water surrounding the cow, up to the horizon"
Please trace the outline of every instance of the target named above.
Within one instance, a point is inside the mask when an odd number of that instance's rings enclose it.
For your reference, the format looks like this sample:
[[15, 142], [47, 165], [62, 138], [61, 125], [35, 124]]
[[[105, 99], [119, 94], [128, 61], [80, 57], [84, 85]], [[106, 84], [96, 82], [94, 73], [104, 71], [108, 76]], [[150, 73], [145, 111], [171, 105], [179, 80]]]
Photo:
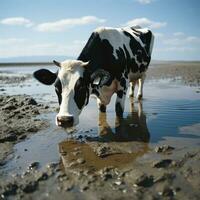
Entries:
[[73, 133], [34, 70], [0, 68], [0, 199], [200, 198], [199, 62], [153, 63], [123, 119], [91, 98]]

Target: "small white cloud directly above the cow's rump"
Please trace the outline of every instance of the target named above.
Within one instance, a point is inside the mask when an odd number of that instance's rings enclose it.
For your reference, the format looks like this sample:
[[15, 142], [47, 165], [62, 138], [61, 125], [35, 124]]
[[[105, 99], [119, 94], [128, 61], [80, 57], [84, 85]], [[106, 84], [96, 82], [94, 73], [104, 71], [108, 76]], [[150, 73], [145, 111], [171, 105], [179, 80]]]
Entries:
[[136, 19], [130, 20], [130, 21], [126, 22], [125, 25], [126, 26], [139, 25], [141, 27], [158, 29], [158, 28], [161, 28], [161, 27], [165, 27], [167, 25], [167, 23], [166, 22], [155, 22], [155, 21], [152, 21], [150, 19], [143, 17], [143, 18], [136, 18]]

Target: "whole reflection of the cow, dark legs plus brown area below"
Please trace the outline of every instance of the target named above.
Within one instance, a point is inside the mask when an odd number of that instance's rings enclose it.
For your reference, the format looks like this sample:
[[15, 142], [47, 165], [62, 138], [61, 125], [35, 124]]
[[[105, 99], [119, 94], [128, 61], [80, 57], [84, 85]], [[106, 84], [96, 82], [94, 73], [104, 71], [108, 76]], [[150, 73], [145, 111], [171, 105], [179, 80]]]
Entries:
[[[137, 157], [148, 150], [149, 132], [142, 104], [138, 109], [131, 101], [131, 112], [126, 118], [116, 117], [114, 130], [108, 125], [106, 113], [99, 114], [99, 137], [87, 138], [86, 142], [76, 140], [63, 141], [59, 144], [62, 163], [65, 170], [86, 168], [96, 171], [104, 167], [129, 166]], [[75, 156], [75, 149], [79, 154]], [[72, 165], [74, 160], [84, 159], [84, 163]], [[132, 167], [132, 165], [131, 165]]]

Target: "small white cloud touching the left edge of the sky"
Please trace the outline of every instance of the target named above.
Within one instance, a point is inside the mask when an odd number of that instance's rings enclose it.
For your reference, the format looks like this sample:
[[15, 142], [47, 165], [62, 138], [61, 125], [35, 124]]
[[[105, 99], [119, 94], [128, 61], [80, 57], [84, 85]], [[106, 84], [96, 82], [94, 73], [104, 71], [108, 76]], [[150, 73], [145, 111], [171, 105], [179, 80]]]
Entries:
[[10, 25], [10, 26], [26, 26], [26, 27], [31, 27], [33, 23], [24, 17], [10, 17], [10, 18], [4, 18], [0, 20], [1, 24], [4, 25]]

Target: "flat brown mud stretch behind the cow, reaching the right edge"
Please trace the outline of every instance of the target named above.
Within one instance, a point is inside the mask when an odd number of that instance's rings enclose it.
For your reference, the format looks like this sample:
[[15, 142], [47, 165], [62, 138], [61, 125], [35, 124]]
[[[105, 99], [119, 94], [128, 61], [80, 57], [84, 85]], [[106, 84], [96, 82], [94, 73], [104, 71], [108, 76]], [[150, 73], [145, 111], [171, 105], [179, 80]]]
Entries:
[[200, 62], [157, 62], [147, 71], [147, 79], [172, 79], [190, 86], [200, 85]]

